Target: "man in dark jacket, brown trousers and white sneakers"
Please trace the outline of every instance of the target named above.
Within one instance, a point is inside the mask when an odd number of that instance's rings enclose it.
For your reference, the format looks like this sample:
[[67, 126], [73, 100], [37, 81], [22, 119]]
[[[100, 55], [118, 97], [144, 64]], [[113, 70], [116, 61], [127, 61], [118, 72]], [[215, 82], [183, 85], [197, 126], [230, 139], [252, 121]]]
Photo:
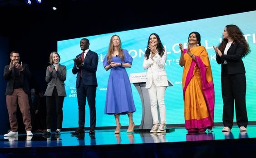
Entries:
[[20, 53], [10, 53], [10, 65], [5, 65], [4, 79], [6, 85], [6, 106], [10, 121], [10, 132], [4, 137], [18, 136], [18, 121], [16, 117], [17, 105], [22, 113], [23, 123], [27, 136], [33, 136], [31, 130], [30, 104], [28, 94], [30, 93], [28, 80], [31, 78], [29, 65], [20, 62]]

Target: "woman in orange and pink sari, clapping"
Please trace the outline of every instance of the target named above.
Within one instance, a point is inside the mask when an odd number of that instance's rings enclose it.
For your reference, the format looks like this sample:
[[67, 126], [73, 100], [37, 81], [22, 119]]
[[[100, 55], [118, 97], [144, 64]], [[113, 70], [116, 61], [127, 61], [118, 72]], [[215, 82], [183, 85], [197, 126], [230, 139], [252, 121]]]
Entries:
[[179, 65], [184, 66], [182, 88], [185, 128], [188, 133], [205, 133], [214, 126], [214, 86], [208, 53], [201, 46], [201, 36], [192, 32], [188, 36], [187, 49], [179, 44]]

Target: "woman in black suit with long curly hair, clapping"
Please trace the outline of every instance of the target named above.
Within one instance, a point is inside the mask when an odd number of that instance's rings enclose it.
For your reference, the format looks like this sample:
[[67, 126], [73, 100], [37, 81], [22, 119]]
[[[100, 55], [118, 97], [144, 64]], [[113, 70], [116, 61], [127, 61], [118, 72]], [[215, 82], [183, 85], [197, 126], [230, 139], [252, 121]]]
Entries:
[[224, 128], [222, 132], [231, 132], [236, 108], [236, 123], [240, 131], [247, 131], [246, 111], [246, 70], [242, 58], [251, 52], [240, 28], [226, 25], [222, 33], [223, 40], [214, 48], [216, 60], [222, 65], [222, 99]]

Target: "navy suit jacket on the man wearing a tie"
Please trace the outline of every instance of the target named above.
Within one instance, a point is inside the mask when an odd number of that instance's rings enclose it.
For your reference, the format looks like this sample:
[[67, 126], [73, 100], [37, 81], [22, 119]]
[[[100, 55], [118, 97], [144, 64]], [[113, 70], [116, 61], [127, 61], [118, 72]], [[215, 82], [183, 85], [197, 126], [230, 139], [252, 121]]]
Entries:
[[[76, 58], [80, 57], [81, 54], [76, 56]], [[72, 69], [73, 74], [77, 74], [76, 76], [76, 88], [79, 87], [80, 81], [80, 70], [82, 70], [82, 79], [85, 85], [95, 85], [98, 86], [96, 71], [98, 68], [98, 54], [94, 51], [89, 50], [87, 55], [84, 58], [84, 64], [79, 66], [77, 69], [76, 65]]]

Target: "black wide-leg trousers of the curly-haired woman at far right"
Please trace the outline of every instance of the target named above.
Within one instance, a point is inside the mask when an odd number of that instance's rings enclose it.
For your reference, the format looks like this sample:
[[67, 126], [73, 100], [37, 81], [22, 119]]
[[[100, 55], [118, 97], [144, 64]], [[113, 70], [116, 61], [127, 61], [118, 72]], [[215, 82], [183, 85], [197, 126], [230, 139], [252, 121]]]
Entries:
[[246, 75], [227, 74], [226, 65], [223, 65], [222, 72], [223, 125], [232, 128], [235, 103], [236, 123], [238, 127], [247, 127]]

